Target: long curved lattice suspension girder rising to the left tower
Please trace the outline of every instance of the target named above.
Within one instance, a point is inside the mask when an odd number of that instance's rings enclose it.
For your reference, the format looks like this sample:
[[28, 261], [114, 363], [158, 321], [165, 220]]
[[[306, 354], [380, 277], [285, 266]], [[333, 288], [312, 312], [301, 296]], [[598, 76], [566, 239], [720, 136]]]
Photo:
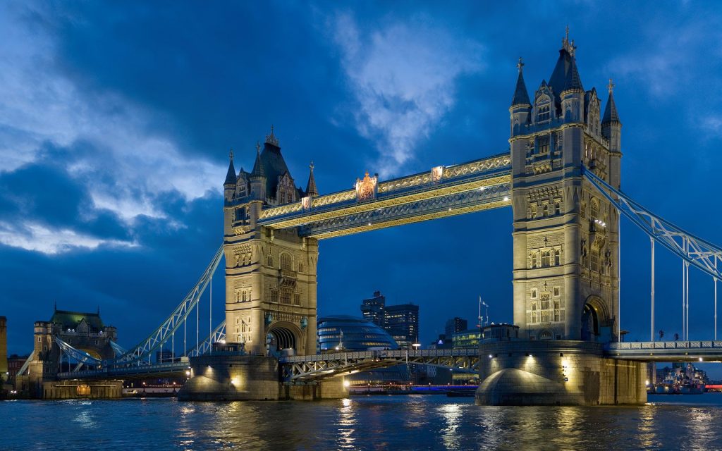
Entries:
[[196, 307], [198, 304], [201, 299], [201, 294], [203, 294], [206, 286], [208, 286], [210, 280], [212, 279], [213, 273], [216, 271], [216, 268], [218, 268], [218, 264], [220, 263], [222, 256], [223, 246], [221, 245], [221, 247], [216, 251], [213, 260], [211, 260], [211, 263], [206, 268], [206, 271], [204, 271], [201, 276], [201, 279], [199, 279], [196, 285], [193, 286], [193, 289], [186, 294], [186, 297], [183, 298], [181, 304], [178, 305], [178, 307], [175, 307], [173, 313], [171, 313], [170, 316], [166, 318], [165, 321], [163, 321], [163, 323], [155, 331], [153, 331], [153, 333], [150, 334], [150, 336], [144, 338], [144, 340], [138, 343], [133, 349], [130, 349], [122, 356], [119, 356], [108, 363], [122, 365], [137, 362], [141, 359], [147, 358], [147, 356], [151, 355], [154, 351], [160, 349], [166, 341], [170, 340], [173, 333], [175, 333], [175, 330], [178, 330], [178, 328], [183, 324], [183, 321], [188, 317], [188, 314], [191, 310], [193, 310], [193, 307]]

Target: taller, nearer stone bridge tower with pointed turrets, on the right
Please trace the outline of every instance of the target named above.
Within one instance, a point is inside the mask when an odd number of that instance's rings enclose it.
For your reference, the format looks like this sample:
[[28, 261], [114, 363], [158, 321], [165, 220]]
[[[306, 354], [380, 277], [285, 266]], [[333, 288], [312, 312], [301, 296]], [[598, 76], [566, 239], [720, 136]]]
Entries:
[[510, 111], [514, 323], [531, 340], [614, 341], [619, 217], [582, 166], [619, 188], [620, 131], [609, 82], [604, 116], [567, 36], [530, 99], [519, 74]]

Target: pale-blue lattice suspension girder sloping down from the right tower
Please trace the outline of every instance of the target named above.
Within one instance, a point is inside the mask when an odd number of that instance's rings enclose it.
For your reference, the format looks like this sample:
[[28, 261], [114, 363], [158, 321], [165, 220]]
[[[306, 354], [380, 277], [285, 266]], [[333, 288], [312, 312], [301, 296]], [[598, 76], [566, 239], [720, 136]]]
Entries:
[[653, 240], [716, 280], [722, 279], [722, 248], [653, 214], [586, 167], [583, 168], [583, 174], [589, 183]]

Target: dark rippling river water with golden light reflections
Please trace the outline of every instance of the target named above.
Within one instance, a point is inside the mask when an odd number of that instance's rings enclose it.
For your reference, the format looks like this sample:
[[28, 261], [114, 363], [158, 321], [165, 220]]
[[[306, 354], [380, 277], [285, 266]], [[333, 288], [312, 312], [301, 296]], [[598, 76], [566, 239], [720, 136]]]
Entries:
[[2, 450], [722, 450], [722, 393], [635, 407], [489, 407], [444, 395], [310, 402], [0, 402]]

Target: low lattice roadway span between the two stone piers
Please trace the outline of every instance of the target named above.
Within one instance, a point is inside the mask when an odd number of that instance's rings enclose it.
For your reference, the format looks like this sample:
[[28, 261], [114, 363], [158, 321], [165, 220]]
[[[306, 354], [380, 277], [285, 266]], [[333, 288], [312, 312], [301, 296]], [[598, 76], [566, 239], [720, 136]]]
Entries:
[[351, 375], [371, 369], [399, 364], [421, 364], [453, 369], [458, 372], [479, 371], [478, 349], [429, 349], [410, 351], [337, 352], [313, 356], [292, 356], [280, 359], [286, 380], [310, 381]]

